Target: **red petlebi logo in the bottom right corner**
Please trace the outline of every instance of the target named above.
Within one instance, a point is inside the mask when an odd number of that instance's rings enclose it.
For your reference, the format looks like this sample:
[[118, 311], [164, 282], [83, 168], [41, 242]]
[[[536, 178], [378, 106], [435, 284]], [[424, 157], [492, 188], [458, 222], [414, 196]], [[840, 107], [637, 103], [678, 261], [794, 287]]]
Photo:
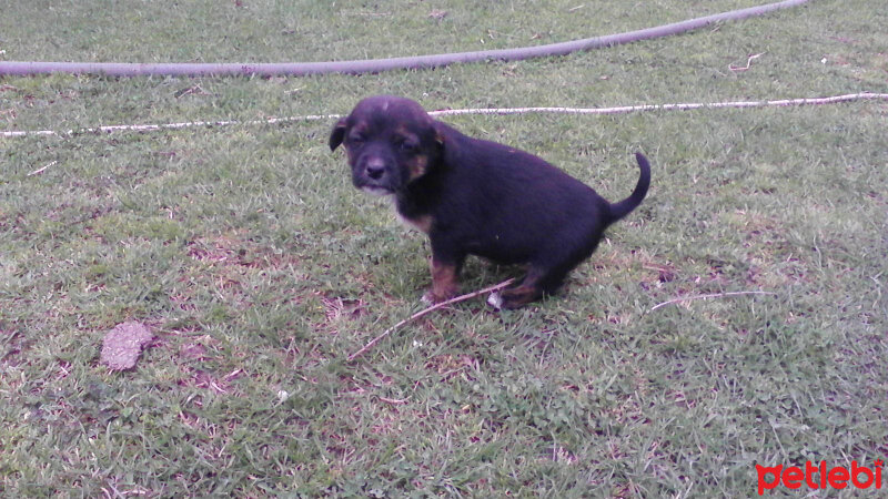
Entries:
[[840, 490], [848, 487], [848, 481], [850, 481], [858, 489], [881, 489], [881, 459], [876, 459], [872, 468], [857, 466], [857, 461], [851, 461], [850, 470], [844, 466], [828, 468], [826, 461], [820, 461], [820, 466], [805, 461], [805, 469], [798, 466], [784, 468], [784, 465], [756, 465], [758, 495], [761, 496], [765, 490], [771, 490], [780, 483], [794, 490], [803, 486], [808, 486], [810, 489], [830, 487]]

